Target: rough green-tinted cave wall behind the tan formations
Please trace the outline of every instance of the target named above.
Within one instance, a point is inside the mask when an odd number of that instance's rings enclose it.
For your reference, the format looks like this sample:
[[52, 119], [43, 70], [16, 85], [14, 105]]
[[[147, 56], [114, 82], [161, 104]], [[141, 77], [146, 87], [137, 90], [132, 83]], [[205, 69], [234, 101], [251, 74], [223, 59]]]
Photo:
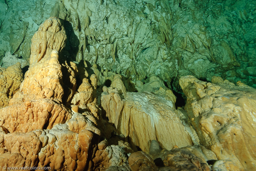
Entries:
[[1, 2], [0, 50], [27, 59], [34, 32], [57, 16], [64, 20], [70, 61], [96, 63], [133, 81], [156, 74], [174, 89], [188, 74], [256, 87], [252, 0], [31, 2]]

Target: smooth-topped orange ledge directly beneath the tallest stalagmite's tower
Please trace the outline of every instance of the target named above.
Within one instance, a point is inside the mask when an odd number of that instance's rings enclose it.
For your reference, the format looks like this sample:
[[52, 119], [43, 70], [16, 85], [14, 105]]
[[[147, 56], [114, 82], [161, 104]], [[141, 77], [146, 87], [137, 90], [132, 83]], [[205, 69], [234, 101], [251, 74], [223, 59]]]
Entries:
[[65, 106], [50, 99], [28, 100], [0, 109], [0, 125], [12, 132], [51, 129], [71, 118]]

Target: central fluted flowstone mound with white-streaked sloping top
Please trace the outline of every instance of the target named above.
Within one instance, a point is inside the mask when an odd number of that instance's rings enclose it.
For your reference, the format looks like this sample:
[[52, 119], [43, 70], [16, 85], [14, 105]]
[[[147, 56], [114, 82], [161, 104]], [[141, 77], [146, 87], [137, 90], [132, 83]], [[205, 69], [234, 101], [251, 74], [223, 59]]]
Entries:
[[[123, 87], [123, 83], [119, 83], [121, 85], [116, 87]], [[101, 105], [109, 122], [114, 124], [118, 133], [122, 133], [127, 141], [129, 139], [133, 149], [139, 146], [149, 152], [151, 140], [158, 140], [168, 150], [174, 145], [191, 145], [191, 137], [175, 109], [172, 91], [166, 87], [156, 88], [159, 85], [157, 83], [154, 85], [149, 88], [145, 84], [145, 89], [157, 89], [154, 92], [127, 92], [124, 99], [119, 94], [120, 89], [103, 87]]]

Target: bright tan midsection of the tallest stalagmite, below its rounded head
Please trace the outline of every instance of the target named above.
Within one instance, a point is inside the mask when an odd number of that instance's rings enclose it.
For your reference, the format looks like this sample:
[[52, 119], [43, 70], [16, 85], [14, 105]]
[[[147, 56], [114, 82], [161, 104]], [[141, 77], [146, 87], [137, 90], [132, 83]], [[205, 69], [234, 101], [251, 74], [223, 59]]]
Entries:
[[[72, 64], [71, 64], [72, 65]], [[27, 101], [31, 99], [47, 98], [56, 102], [62, 102], [65, 99], [71, 99], [76, 87], [76, 66], [74, 69], [66, 65], [71, 73], [70, 79], [72, 91], [64, 91], [64, 83], [62, 82], [63, 72], [58, 62], [58, 52], [52, 51], [52, 54], [46, 58], [44, 62], [33, 63], [25, 74], [25, 79], [20, 85], [20, 91], [13, 96], [10, 105], [19, 103], [19, 100]], [[71, 70], [72, 69], [72, 70]], [[69, 86], [69, 85], [65, 85]], [[66, 93], [65, 93], [66, 92]], [[66, 101], [66, 100], [65, 100]]]

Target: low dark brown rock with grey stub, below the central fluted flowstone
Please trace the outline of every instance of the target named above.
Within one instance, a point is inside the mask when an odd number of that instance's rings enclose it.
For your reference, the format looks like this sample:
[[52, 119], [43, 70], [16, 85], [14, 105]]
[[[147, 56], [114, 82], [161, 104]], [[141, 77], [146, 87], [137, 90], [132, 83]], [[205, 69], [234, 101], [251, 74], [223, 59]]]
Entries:
[[151, 141], [150, 155], [159, 170], [209, 170], [207, 163], [217, 161], [216, 155], [202, 145], [182, 148], [175, 145], [168, 151], [155, 140]]

